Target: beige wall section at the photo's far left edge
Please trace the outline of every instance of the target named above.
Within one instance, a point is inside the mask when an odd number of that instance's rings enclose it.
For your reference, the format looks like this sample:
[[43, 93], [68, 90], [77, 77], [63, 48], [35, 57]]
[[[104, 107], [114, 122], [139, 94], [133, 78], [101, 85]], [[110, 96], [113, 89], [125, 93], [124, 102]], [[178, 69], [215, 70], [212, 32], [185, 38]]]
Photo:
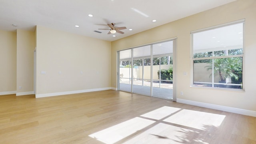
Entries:
[[0, 30], [0, 72], [0, 93], [16, 91], [16, 32]]

